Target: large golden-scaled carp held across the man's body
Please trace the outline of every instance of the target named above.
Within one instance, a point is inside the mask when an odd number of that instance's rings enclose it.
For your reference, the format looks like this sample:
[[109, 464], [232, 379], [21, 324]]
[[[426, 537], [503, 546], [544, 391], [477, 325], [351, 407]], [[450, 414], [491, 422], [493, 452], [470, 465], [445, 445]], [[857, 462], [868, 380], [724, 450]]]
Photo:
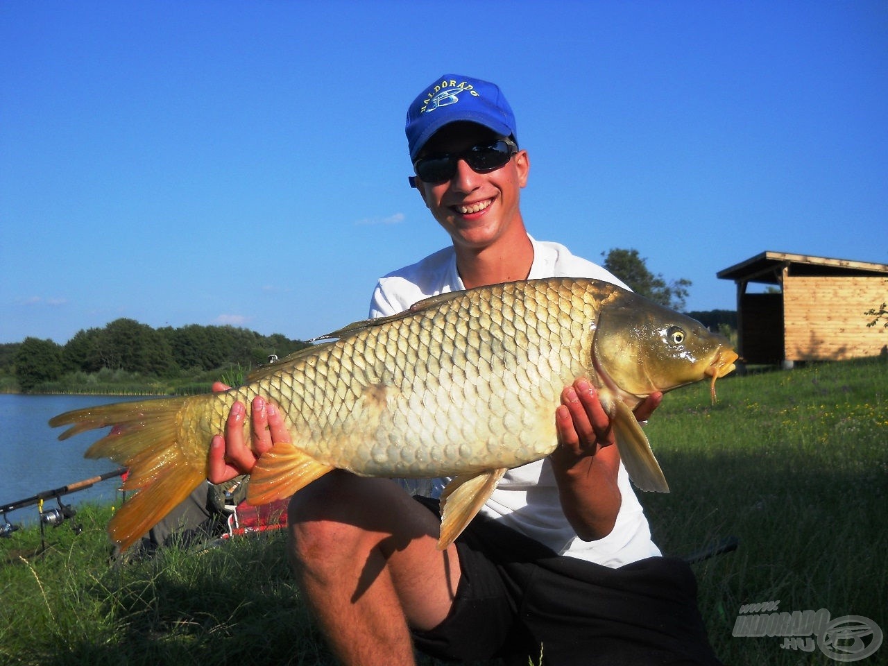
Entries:
[[[358, 321], [226, 392], [76, 409], [60, 440], [113, 426], [86, 452], [131, 472], [138, 490], [108, 525], [128, 548], [206, 479], [210, 439], [235, 400], [274, 400], [292, 443], [251, 472], [248, 501], [291, 496], [333, 469], [361, 476], [454, 477], [441, 496], [439, 547], [479, 511], [507, 470], [557, 446], [563, 388], [588, 377], [642, 490], [668, 492], [632, 408], [734, 369], [728, 341], [702, 324], [605, 281], [515, 281], [426, 298]], [[250, 419], [243, 425], [249, 437]]]

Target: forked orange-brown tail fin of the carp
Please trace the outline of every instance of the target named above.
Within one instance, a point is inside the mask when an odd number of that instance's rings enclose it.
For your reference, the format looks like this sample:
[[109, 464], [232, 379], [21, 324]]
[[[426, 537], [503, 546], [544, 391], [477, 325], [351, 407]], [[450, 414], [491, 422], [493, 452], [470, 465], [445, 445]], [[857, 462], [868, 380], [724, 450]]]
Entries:
[[[123, 490], [138, 490], [115, 512], [108, 534], [125, 551], [197, 488], [207, 474], [214, 395], [100, 405], [54, 416], [70, 425], [59, 435], [113, 426], [87, 449], [88, 458], [110, 458], [130, 469]], [[205, 431], [205, 432], [204, 432]], [[219, 430], [221, 432], [221, 430]], [[205, 434], [205, 450], [194, 441]]]

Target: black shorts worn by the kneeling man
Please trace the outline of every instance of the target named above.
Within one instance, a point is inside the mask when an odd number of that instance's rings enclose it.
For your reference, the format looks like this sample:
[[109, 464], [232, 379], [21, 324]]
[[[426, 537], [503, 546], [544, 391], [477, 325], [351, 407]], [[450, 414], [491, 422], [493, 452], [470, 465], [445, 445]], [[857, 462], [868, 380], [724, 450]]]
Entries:
[[[416, 499], [438, 511], [437, 500]], [[542, 652], [546, 666], [720, 663], [697, 609], [694, 573], [681, 559], [602, 567], [559, 557], [483, 516], [456, 551], [462, 577], [448, 618], [413, 632], [425, 654], [526, 665]]]

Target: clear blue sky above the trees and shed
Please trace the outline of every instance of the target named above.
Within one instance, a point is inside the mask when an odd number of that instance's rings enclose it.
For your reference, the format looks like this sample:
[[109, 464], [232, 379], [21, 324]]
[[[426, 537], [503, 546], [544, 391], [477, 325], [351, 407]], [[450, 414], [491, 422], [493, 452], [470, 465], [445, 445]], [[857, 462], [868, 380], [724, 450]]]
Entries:
[[888, 4], [0, 4], [0, 342], [130, 317], [308, 338], [448, 243], [408, 103], [499, 83], [535, 237], [692, 310], [763, 250], [888, 263]]

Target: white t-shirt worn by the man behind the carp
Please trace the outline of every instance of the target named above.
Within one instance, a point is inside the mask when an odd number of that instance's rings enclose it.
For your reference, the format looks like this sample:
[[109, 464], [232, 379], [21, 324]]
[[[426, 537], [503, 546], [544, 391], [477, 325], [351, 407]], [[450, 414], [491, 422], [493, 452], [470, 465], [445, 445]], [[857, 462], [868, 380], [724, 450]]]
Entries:
[[[575, 257], [563, 245], [533, 238], [530, 241], [534, 247], [534, 263], [528, 279], [588, 277], [626, 288], [613, 274], [586, 259]], [[381, 278], [373, 292], [370, 317], [400, 313], [418, 300], [459, 289], [465, 287], [456, 270], [456, 252], [453, 247], [444, 248]], [[552, 418], [555, 418], [554, 410]], [[418, 489], [421, 494], [437, 496], [446, 481], [434, 480], [431, 484], [408, 481], [406, 485], [412, 490]], [[651, 541], [650, 527], [622, 463], [617, 486], [622, 503], [614, 529], [597, 541], [583, 541], [567, 522], [561, 511], [558, 486], [548, 458], [506, 472], [481, 513], [547, 545], [552, 551], [606, 567], [622, 567], [638, 559], [660, 555]]]

